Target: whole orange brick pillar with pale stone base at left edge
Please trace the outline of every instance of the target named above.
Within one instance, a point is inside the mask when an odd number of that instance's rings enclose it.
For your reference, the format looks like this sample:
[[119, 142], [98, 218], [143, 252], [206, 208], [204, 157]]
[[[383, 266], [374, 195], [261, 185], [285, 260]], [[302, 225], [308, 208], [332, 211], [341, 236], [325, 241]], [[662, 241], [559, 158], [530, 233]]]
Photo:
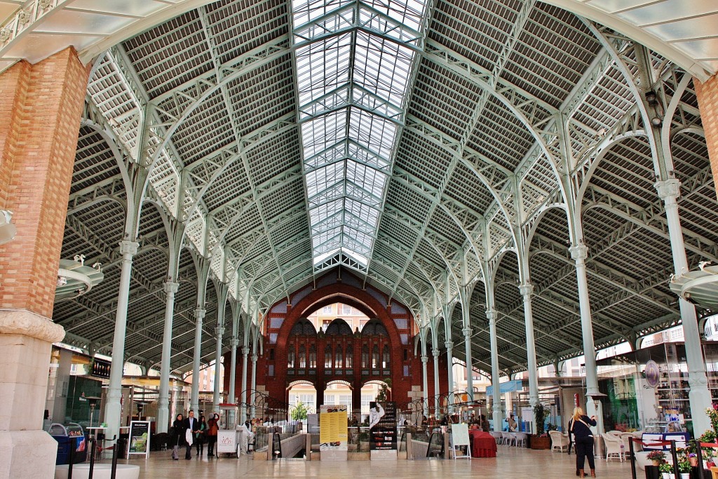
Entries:
[[88, 69], [67, 49], [0, 74], [0, 209], [17, 236], [0, 245], [0, 478], [48, 478], [57, 443], [42, 431], [65, 230]]

